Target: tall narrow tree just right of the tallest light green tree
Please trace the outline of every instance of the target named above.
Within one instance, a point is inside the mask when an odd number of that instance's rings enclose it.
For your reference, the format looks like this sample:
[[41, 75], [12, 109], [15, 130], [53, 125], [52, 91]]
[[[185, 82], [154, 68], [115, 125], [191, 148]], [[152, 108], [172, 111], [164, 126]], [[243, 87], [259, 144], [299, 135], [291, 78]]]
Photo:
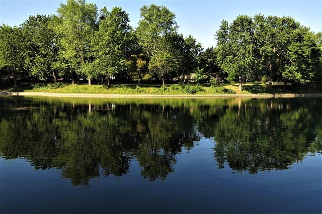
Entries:
[[129, 26], [128, 14], [120, 7], [111, 12], [101, 10], [99, 30], [95, 35], [95, 63], [102, 76], [109, 79], [119, 71], [125, 70], [126, 58], [130, 47], [132, 28]]

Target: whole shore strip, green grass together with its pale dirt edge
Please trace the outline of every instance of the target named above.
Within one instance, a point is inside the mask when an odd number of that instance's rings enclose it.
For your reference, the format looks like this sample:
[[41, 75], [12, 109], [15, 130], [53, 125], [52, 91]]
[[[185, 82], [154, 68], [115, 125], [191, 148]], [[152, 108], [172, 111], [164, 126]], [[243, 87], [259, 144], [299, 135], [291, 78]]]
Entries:
[[131, 85], [113, 84], [87, 85], [68, 83], [22, 84], [18, 88], [8, 88], [2, 95], [55, 96], [55, 97], [302, 97], [322, 96], [317, 88], [296, 87], [293, 85], [261, 83], [245, 84], [243, 91], [238, 91], [238, 84], [171, 84]]

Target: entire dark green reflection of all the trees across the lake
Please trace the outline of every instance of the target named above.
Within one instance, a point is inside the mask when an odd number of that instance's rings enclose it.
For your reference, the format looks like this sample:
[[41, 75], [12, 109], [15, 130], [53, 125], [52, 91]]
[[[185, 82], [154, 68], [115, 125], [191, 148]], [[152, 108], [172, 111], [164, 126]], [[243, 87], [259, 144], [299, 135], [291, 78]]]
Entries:
[[7, 101], [0, 103], [0, 153], [25, 157], [36, 169], [62, 168], [73, 185], [101, 175], [122, 176], [135, 159], [141, 175], [153, 181], [173, 172], [176, 155], [183, 147], [192, 149], [201, 133], [215, 140], [220, 168], [228, 163], [250, 173], [285, 169], [307, 152], [321, 150], [321, 107], [318, 100]]

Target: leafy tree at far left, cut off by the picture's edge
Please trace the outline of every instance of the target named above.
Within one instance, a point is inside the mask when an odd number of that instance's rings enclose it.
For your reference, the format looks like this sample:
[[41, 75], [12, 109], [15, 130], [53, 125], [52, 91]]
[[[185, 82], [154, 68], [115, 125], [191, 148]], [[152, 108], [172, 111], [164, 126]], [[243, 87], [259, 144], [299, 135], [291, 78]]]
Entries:
[[0, 27], [0, 69], [8, 71], [17, 87], [18, 75], [24, 72], [24, 35], [21, 28]]

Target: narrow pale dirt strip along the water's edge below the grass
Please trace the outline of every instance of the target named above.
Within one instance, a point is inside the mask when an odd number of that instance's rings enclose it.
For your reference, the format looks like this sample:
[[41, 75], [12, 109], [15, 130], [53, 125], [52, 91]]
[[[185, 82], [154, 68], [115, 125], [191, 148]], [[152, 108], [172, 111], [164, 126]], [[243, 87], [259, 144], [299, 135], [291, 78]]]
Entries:
[[157, 95], [157, 94], [104, 94], [104, 93], [49, 93], [49, 92], [8, 92], [0, 91], [0, 95], [7, 96], [55, 96], [55, 97], [322, 97], [322, 93], [276, 93], [276, 94], [181, 94], [181, 95]]

